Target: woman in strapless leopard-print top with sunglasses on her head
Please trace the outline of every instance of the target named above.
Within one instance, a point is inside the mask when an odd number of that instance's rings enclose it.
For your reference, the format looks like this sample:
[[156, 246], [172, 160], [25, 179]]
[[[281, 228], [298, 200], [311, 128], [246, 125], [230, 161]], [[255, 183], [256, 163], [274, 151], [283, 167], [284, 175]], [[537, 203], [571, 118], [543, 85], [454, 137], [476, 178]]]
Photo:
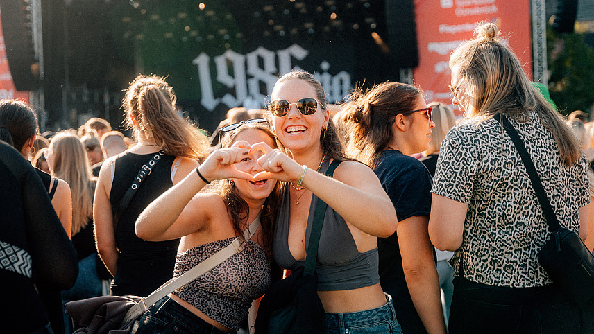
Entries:
[[[268, 288], [272, 223], [280, 190], [275, 180], [251, 180], [262, 171], [256, 163], [262, 152], [248, 154], [255, 143], [275, 147], [265, 122], [260, 118], [221, 129], [219, 134], [226, 132], [221, 141], [226, 148], [214, 150], [196, 173], [158, 197], [139, 216], [136, 233], [140, 238], [181, 237], [174, 277], [242, 236], [258, 215], [261, 223], [243, 251], [151, 307], [136, 333], [170, 333], [175, 327], [184, 333], [235, 332], [252, 301]], [[198, 193], [215, 179], [221, 181]]]

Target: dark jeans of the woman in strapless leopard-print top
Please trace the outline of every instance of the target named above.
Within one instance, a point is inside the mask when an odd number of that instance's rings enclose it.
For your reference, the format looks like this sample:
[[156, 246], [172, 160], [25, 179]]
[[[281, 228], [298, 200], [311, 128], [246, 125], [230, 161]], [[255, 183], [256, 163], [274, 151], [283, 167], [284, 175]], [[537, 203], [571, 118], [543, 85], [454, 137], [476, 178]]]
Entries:
[[163, 297], [142, 315], [138, 326], [130, 333], [221, 334], [226, 332], [208, 324], [170, 297]]

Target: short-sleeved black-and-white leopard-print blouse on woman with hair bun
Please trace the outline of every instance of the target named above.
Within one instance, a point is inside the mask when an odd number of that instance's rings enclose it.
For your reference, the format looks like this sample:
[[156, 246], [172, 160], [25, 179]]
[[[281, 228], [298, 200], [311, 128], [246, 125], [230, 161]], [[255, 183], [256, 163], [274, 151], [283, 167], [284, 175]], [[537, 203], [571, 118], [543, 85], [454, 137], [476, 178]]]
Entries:
[[[566, 168], [536, 112], [510, 122], [522, 137], [562, 227], [579, 231], [578, 209], [590, 202], [586, 157]], [[450, 260], [477, 283], [534, 287], [552, 283], [536, 254], [548, 225], [526, 168], [495, 119], [475, 117], [441, 144], [432, 193], [468, 204], [462, 245]]]

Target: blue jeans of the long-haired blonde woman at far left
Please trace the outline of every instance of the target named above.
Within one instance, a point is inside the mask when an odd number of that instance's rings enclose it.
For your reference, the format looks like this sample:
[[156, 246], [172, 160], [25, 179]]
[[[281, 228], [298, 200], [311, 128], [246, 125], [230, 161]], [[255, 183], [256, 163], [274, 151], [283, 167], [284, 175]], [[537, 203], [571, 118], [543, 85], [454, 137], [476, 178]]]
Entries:
[[74, 286], [62, 291], [62, 312], [64, 313], [65, 333], [73, 332], [70, 316], [66, 314], [64, 305], [73, 300], [101, 296], [102, 282], [97, 275], [97, 254], [93, 253], [78, 261], [78, 276]]

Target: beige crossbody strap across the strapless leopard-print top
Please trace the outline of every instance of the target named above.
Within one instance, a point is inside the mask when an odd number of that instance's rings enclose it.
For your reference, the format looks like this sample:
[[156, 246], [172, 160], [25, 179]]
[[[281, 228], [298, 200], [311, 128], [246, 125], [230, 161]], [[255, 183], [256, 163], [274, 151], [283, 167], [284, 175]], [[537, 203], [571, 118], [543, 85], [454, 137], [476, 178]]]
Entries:
[[219, 250], [217, 253], [212, 254], [212, 256], [206, 258], [201, 263], [194, 265], [192, 269], [181, 274], [176, 279], [170, 279], [161, 285], [160, 288], [151, 293], [151, 295], [148, 295], [148, 297], [142, 298], [138, 304], [135, 304], [135, 306], [128, 310], [128, 313], [126, 313], [126, 319], [124, 319], [124, 323], [126, 323], [129, 319], [133, 319], [137, 315], [144, 313], [146, 310], [148, 310], [148, 308], [159, 301], [159, 299], [194, 281], [194, 279], [197, 279], [198, 277], [205, 274], [205, 272], [223, 263], [223, 261], [226, 261], [234, 254], [244, 250], [246, 243], [252, 238], [259, 226], [260, 215], [258, 215], [256, 219], [250, 224], [250, 226], [244, 231], [244, 238], [235, 238], [235, 240], [233, 240], [233, 242], [227, 247]]

